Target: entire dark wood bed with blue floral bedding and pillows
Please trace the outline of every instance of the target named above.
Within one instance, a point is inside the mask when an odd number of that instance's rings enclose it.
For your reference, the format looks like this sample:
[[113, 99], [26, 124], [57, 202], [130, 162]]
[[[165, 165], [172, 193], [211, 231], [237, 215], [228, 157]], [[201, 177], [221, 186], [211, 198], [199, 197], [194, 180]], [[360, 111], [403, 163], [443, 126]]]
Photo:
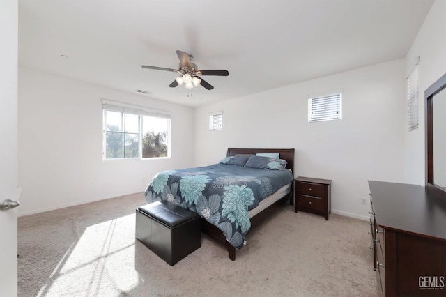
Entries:
[[247, 231], [277, 204], [292, 203], [293, 167], [293, 148], [228, 148], [218, 164], [158, 173], [145, 196], [148, 203], [167, 200], [199, 213], [202, 231], [226, 245], [235, 260]]

